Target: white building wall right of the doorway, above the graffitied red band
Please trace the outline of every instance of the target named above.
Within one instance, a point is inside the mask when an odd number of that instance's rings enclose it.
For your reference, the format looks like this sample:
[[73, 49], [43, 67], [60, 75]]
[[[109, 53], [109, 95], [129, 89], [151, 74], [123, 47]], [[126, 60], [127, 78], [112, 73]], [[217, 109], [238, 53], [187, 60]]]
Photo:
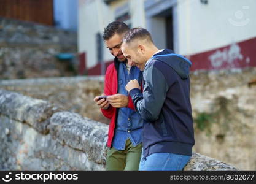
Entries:
[[179, 53], [192, 55], [256, 36], [254, 0], [178, 0]]

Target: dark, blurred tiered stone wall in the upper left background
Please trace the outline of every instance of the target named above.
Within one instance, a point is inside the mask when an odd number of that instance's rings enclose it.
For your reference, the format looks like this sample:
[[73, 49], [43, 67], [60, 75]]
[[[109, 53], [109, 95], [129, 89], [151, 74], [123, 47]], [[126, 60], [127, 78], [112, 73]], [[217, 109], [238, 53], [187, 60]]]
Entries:
[[[59, 53], [74, 59], [59, 61]], [[77, 73], [77, 34], [0, 17], [0, 79], [73, 76]]]

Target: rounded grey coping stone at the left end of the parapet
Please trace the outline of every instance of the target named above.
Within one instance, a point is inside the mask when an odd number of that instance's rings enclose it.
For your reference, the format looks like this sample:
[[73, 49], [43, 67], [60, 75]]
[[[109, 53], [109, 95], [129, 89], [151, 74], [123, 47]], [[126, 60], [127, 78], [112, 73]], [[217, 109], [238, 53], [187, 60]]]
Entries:
[[60, 111], [47, 101], [33, 99], [7, 90], [0, 90], [0, 112], [12, 120], [28, 123], [37, 131], [46, 134], [49, 118]]

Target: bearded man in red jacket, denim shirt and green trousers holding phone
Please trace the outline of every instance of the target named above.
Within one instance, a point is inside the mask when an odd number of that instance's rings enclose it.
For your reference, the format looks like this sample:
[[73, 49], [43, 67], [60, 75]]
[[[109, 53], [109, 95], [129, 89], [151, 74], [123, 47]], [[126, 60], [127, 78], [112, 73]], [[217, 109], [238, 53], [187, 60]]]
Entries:
[[107, 67], [104, 96], [94, 101], [103, 115], [111, 119], [107, 140], [107, 170], [138, 170], [142, 150], [142, 118], [134, 111], [125, 85], [129, 80], [141, 83], [142, 72], [129, 66], [121, 51], [123, 35], [129, 28], [125, 23], [114, 21], [104, 29], [103, 39], [109, 52], [115, 57]]

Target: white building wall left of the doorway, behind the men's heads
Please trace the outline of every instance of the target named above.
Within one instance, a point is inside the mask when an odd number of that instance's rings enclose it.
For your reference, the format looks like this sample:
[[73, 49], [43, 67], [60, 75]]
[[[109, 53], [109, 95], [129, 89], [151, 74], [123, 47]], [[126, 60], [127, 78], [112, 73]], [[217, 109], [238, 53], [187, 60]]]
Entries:
[[[132, 26], [145, 28], [144, 1], [143, 0], [122, 0], [114, 1], [106, 6], [102, 0], [79, 0], [79, 30], [78, 44], [79, 53], [86, 52], [87, 67], [94, 67], [96, 61], [96, 33], [103, 34], [104, 28], [115, 20], [115, 11], [122, 7], [129, 6]], [[103, 60], [111, 61], [114, 57], [104, 47]]]

